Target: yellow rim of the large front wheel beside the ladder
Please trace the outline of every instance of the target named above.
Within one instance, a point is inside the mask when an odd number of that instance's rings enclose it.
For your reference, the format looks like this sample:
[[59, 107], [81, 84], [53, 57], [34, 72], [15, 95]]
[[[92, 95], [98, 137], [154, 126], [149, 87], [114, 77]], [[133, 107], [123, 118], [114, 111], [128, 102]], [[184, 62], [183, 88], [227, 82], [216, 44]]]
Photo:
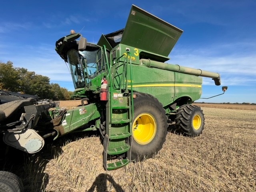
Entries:
[[132, 136], [141, 145], [152, 141], [156, 135], [156, 120], [148, 113], [138, 115], [132, 124]]

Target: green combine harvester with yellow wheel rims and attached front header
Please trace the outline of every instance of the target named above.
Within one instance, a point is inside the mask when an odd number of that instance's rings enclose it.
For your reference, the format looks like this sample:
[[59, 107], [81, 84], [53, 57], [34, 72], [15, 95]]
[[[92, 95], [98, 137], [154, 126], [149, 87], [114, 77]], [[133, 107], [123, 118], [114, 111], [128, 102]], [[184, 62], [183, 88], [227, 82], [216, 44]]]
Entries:
[[164, 63], [181, 34], [134, 5], [125, 28], [102, 34], [97, 44], [71, 30], [56, 42], [55, 50], [69, 64], [72, 97], [81, 105], [66, 110], [33, 98], [2, 104], [4, 142], [36, 153], [47, 137], [99, 130], [103, 166], [114, 170], [156, 154], [170, 123], [186, 136], [199, 136], [204, 114], [192, 103], [202, 94], [201, 77], [220, 85], [220, 75]]

